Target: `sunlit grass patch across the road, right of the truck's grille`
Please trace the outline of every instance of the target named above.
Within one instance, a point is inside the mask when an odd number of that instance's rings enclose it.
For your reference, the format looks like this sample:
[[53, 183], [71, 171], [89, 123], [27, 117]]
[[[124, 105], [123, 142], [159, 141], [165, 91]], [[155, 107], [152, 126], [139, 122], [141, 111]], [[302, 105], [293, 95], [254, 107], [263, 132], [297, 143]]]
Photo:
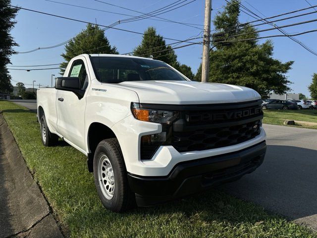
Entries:
[[[264, 110], [263, 123], [283, 125], [285, 119], [317, 123], [317, 110]], [[317, 125], [305, 123], [296, 123], [295, 126], [317, 129]]]

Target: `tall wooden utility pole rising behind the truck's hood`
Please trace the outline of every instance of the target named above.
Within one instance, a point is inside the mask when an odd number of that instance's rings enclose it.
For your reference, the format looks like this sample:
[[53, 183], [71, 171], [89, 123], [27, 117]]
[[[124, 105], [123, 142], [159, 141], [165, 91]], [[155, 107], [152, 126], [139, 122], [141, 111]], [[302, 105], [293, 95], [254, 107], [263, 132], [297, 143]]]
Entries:
[[206, 83], [209, 75], [210, 56], [210, 22], [211, 22], [211, 0], [205, 0], [205, 23], [203, 40], [203, 62], [202, 62], [202, 82]]

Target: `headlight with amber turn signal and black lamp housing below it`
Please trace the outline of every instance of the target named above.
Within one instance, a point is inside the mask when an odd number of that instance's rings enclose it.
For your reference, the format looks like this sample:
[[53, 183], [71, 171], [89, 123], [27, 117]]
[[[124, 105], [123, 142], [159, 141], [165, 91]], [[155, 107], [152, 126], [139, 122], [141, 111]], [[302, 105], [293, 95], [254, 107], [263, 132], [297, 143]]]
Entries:
[[179, 118], [174, 111], [144, 108], [142, 104], [131, 103], [131, 111], [138, 120], [160, 123], [162, 131], [141, 137], [141, 160], [149, 160], [161, 145], [170, 145], [172, 140], [172, 125]]

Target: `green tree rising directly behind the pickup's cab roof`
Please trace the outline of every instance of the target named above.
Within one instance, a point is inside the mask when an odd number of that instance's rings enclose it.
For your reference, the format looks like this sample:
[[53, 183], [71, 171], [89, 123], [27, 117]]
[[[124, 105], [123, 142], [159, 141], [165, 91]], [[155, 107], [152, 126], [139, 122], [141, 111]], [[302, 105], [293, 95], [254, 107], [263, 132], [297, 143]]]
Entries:
[[65, 53], [61, 54], [64, 62], [60, 64], [60, 73], [72, 58], [81, 54], [119, 54], [116, 47], [111, 47], [105, 36], [105, 30], [99, 26], [88, 24], [86, 29], [80, 32], [65, 45]]

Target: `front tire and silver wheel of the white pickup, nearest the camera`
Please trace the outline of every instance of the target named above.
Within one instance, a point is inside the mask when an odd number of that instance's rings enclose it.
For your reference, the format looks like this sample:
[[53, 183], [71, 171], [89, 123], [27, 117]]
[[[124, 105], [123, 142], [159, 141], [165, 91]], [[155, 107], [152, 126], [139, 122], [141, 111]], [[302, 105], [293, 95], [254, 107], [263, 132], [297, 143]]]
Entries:
[[134, 207], [120, 145], [116, 138], [101, 141], [94, 155], [94, 178], [99, 198], [107, 209], [123, 212]]

